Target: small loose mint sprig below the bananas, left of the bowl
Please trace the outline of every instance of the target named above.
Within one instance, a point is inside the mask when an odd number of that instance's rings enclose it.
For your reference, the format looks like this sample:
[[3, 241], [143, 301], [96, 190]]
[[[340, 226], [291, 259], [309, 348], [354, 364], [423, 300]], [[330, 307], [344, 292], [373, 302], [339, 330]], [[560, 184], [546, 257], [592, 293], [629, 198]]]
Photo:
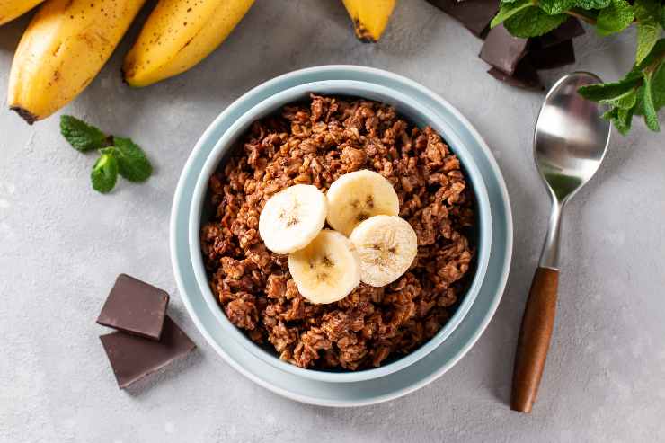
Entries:
[[146, 153], [131, 138], [106, 136], [99, 128], [70, 115], [60, 118], [60, 133], [78, 151], [99, 151], [90, 180], [93, 189], [103, 194], [113, 190], [118, 174], [129, 182], [145, 182], [153, 173]]

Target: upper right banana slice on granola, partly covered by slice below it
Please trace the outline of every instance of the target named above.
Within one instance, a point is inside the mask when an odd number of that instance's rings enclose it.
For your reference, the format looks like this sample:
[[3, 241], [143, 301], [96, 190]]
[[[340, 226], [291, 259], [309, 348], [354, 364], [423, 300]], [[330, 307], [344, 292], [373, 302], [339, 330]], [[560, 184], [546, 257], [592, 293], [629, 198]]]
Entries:
[[400, 210], [393, 185], [380, 173], [367, 169], [345, 173], [332, 182], [325, 196], [328, 198], [328, 224], [346, 236], [369, 217], [396, 216]]

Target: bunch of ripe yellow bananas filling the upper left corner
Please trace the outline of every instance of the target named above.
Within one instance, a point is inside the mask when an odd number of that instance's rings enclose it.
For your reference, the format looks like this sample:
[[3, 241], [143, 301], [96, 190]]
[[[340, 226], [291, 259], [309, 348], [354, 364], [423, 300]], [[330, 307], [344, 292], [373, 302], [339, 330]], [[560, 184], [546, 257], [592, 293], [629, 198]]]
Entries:
[[[0, 0], [0, 24], [43, 0]], [[13, 58], [7, 103], [32, 124], [71, 102], [102, 69], [145, 0], [46, 0]], [[160, 0], [129, 50], [123, 75], [146, 86], [196, 65], [253, 0]]]

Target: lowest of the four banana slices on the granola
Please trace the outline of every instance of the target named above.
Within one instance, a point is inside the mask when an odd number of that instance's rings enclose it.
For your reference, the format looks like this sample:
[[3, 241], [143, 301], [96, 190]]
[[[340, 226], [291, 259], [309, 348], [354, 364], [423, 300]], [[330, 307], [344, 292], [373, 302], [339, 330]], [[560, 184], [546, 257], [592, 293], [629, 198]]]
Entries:
[[300, 294], [315, 304], [341, 300], [360, 284], [356, 248], [331, 229], [321, 231], [305, 249], [288, 254], [288, 271]]

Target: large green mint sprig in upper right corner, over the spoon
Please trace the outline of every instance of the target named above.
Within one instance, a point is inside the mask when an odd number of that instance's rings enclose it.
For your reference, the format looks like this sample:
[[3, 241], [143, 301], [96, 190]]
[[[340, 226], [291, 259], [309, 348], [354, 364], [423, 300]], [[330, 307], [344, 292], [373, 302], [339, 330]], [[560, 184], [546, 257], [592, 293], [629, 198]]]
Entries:
[[635, 24], [637, 41], [631, 71], [615, 83], [580, 89], [585, 98], [607, 105], [604, 117], [621, 134], [642, 116], [652, 131], [660, 130], [658, 112], [665, 107], [665, 4], [659, 0], [502, 0], [492, 27], [501, 22], [516, 37], [527, 39], [553, 31], [573, 16], [599, 35], [625, 31]]

